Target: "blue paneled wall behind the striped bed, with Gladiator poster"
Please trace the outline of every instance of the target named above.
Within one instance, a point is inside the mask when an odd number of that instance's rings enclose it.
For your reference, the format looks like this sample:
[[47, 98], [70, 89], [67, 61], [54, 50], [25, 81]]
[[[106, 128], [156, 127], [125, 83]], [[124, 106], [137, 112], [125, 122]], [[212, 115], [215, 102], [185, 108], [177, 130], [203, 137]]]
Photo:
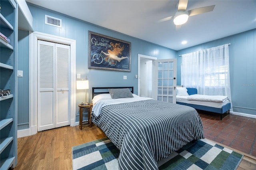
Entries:
[[[87, 91], [87, 95], [90, 96], [90, 101], [92, 100], [92, 87], [134, 86], [134, 93], [138, 93], [138, 79], [135, 78], [135, 75], [138, 75], [138, 54], [149, 55], [157, 57], [158, 59], [176, 58], [177, 52], [175, 50], [168, 49], [166, 47], [162, 47], [153, 43], [145, 42], [143, 40], [120, 34], [106, 28], [95, 26], [90, 23], [77, 20], [75, 18], [70, 18], [69, 16], [66, 16], [64, 14], [40, 8], [29, 3], [28, 7], [33, 16], [32, 27], [34, 31], [76, 40], [76, 73], [80, 73], [82, 78], [87, 76], [90, 86], [90, 89]], [[45, 15], [62, 19], [62, 28], [44, 24]], [[131, 72], [88, 69], [89, 30], [113, 38], [118, 38], [120, 40], [131, 42]], [[28, 32], [19, 30], [19, 36], [18, 69], [28, 69]], [[26, 74], [28, 76], [28, 73]], [[124, 75], [127, 76], [127, 80], [123, 79]], [[19, 130], [21, 130], [28, 128], [29, 122], [29, 101], [26, 97], [23, 96], [23, 89], [21, 89], [22, 87], [28, 88], [28, 77], [19, 77], [18, 80], [18, 87], [20, 89], [18, 93], [18, 100], [22, 101], [18, 105], [18, 127], [20, 127]], [[84, 96], [84, 91], [78, 90], [76, 92], [77, 105], [84, 101]], [[76, 114], [79, 114], [78, 107], [76, 108]], [[78, 120], [79, 117], [76, 116], [76, 121]]]

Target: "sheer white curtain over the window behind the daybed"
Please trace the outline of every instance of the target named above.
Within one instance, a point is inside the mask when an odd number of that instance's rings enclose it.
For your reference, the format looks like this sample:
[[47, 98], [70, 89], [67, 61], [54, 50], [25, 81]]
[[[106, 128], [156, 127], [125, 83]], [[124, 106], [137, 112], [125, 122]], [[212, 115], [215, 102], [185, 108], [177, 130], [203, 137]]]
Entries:
[[227, 96], [231, 103], [228, 44], [183, 54], [181, 83], [201, 95]]

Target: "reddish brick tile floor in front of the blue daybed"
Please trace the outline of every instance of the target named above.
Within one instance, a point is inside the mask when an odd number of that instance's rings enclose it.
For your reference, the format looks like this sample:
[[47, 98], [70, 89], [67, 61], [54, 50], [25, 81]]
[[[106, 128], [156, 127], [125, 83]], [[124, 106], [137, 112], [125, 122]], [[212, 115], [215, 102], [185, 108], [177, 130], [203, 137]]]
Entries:
[[256, 119], [198, 110], [204, 136], [231, 148], [256, 156]]

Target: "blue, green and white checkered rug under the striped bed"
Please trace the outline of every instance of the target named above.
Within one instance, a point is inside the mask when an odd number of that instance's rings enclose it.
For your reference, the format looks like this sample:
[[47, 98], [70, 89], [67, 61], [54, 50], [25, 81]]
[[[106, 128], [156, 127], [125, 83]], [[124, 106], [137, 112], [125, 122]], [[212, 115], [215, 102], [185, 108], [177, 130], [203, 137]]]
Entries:
[[[73, 170], [118, 170], [119, 150], [108, 138], [72, 147]], [[236, 170], [243, 155], [210, 140], [183, 146], [158, 162], [160, 170]]]

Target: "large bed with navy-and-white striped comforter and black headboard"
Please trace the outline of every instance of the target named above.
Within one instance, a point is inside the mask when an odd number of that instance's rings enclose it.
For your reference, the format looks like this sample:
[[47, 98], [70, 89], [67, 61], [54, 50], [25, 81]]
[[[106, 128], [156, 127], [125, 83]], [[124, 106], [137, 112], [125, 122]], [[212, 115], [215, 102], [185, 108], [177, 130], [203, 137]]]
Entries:
[[138, 97], [133, 87], [93, 87], [92, 95], [92, 122], [120, 149], [121, 170], [156, 170], [158, 161], [204, 138], [192, 107]]

